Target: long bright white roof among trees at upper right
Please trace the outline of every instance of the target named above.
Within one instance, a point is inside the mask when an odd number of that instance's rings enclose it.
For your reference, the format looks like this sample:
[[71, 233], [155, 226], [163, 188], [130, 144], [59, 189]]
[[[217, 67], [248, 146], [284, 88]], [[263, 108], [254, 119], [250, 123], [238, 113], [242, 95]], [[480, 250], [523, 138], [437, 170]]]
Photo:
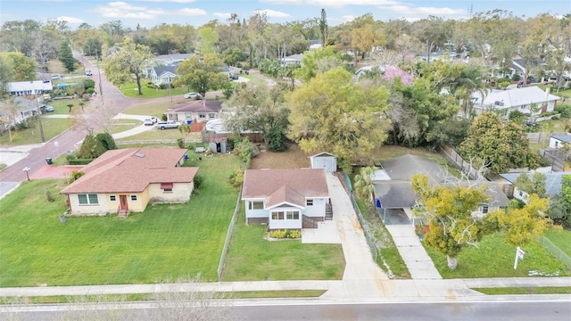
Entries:
[[[523, 88], [513, 88], [508, 90], [492, 90], [487, 93], [482, 101], [481, 96], [476, 95], [476, 104], [492, 105], [495, 108], [510, 108], [523, 106], [530, 103], [546, 103], [558, 101], [561, 97], [551, 95], [538, 86], [528, 86]], [[497, 105], [496, 102], [501, 104]]]

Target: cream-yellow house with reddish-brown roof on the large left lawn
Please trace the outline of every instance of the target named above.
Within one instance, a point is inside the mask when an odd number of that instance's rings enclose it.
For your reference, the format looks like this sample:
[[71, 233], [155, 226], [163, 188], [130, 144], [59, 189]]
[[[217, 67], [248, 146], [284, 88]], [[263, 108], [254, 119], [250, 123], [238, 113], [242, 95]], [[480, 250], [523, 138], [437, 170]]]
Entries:
[[180, 167], [186, 150], [126, 148], [104, 152], [62, 192], [71, 215], [105, 215], [145, 210], [148, 203], [188, 202], [198, 168]]

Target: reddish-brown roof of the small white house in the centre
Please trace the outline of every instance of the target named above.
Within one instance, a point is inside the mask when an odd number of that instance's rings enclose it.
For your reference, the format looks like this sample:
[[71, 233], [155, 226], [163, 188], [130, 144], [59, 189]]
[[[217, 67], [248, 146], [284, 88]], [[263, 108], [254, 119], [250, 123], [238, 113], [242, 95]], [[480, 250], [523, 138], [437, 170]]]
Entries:
[[[324, 169], [246, 169], [242, 199], [269, 198], [305, 206], [305, 198], [328, 197]], [[268, 207], [268, 205], [267, 205]]]

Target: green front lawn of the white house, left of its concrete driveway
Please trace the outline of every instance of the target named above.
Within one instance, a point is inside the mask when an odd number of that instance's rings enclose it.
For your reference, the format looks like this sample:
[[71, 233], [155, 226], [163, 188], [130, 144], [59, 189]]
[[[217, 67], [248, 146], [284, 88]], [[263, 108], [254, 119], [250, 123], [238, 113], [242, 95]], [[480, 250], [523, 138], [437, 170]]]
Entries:
[[224, 281], [340, 280], [345, 261], [341, 244], [302, 244], [301, 240], [270, 242], [266, 227], [246, 225], [244, 209], [222, 273]]

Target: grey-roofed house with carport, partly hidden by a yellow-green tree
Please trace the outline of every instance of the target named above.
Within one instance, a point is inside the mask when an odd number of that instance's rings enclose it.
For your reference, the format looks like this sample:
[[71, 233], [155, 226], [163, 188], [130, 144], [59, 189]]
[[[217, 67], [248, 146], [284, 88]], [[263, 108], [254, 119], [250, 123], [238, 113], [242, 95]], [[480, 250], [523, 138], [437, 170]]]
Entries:
[[[454, 185], [458, 179], [451, 177], [446, 169], [434, 161], [428, 161], [415, 155], [403, 155], [388, 161], [382, 161], [383, 169], [372, 175], [375, 185], [375, 201], [382, 218], [386, 210], [404, 210], [410, 220], [413, 220], [412, 208], [417, 205], [417, 194], [412, 189], [410, 177], [424, 174], [431, 185]], [[501, 191], [499, 185], [493, 182], [473, 182], [475, 185], [486, 185], [486, 194], [490, 198], [487, 203], [480, 204], [473, 213], [475, 216], [484, 215], [492, 210], [506, 208], [508, 197]]]

